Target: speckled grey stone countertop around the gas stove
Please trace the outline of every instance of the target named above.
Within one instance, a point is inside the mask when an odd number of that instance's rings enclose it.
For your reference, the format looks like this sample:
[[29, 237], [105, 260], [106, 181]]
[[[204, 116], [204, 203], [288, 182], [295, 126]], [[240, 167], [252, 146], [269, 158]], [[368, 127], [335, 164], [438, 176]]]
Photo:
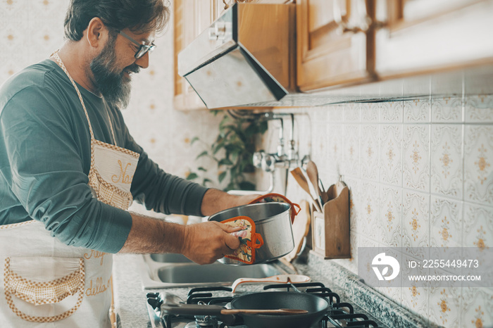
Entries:
[[[152, 291], [167, 291], [186, 299], [187, 288], [143, 289], [140, 277], [139, 255], [116, 255], [113, 257], [113, 282], [115, 303], [123, 328], [151, 327], [146, 308], [146, 294]], [[409, 313], [400, 305], [389, 301], [358, 280], [358, 276], [330, 260], [323, 260], [313, 253], [306, 252], [294, 263], [299, 274], [308, 275], [314, 282], [322, 282], [339, 294], [341, 301], [349, 301], [370, 314], [377, 313], [377, 320], [390, 327], [428, 328], [428, 322]], [[258, 285], [239, 287], [239, 293], [261, 290]], [[371, 317], [370, 317], [371, 319]]]

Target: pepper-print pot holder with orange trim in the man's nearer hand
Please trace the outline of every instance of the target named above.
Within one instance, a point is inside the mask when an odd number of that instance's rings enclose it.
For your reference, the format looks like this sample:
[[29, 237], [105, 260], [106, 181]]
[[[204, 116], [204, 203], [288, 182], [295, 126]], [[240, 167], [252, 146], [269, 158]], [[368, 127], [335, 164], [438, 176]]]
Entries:
[[255, 250], [263, 245], [262, 236], [255, 232], [254, 220], [251, 220], [247, 216], [237, 216], [224, 220], [221, 223], [232, 227], [242, 227], [241, 230], [231, 233], [233, 236], [238, 237], [239, 247], [232, 254], [226, 255], [225, 258], [239, 260], [246, 264], [254, 263]]

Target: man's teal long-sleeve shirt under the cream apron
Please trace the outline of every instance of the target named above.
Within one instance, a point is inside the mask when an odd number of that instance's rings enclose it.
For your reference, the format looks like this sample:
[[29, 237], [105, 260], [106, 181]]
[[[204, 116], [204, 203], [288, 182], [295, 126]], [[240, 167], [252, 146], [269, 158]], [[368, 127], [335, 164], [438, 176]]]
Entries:
[[[140, 154], [130, 191], [159, 213], [201, 215], [206, 188], [170, 175], [149, 159], [118, 108], [77, 85], [94, 137]], [[109, 111], [109, 115], [107, 114]], [[132, 217], [93, 198], [87, 177], [90, 132], [65, 72], [50, 60], [32, 65], [0, 87], [0, 225], [37, 220], [65, 244], [117, 253]]]

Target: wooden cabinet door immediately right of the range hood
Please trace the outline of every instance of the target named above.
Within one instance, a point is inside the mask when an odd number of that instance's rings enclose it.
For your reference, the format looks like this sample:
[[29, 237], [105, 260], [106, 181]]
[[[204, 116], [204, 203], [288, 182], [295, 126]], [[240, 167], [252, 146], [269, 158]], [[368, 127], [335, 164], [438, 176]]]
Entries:
[[[301, 91], [370, 80], [372, 0], [297, 1], [297, 84]], [[342, 30], [342, 25], [347, 29]]]

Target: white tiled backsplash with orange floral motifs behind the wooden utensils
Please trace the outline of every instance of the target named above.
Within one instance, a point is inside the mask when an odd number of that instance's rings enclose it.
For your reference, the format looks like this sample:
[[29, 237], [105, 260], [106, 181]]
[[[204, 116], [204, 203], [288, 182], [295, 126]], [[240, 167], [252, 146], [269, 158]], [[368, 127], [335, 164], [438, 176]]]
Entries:
[[[395, 255], [406, 260], [416, 256], [411, 247], [493, 246], [493, 96], [301, 113], [295, 116], [299, 153], [311, 151], [325, 187], [340, 175], [351, 190], [352, 258], [335, 262], [357, 273], [358, 247], [403, 247]], [[287, 195], [307, 198], [291, 177]], [[444, 327], [493, 326], [491, 288], [377, 291]]]

